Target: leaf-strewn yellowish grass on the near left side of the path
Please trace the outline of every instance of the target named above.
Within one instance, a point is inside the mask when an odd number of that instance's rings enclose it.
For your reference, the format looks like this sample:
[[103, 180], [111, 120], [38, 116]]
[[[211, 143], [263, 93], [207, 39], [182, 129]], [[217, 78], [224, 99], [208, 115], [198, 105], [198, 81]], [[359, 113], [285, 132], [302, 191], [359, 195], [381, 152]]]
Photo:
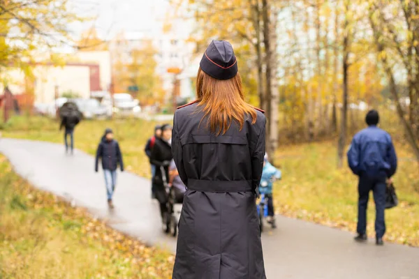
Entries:
[[0, 155], [0, 278], [171, 278], [148, 248], [31, 187]]

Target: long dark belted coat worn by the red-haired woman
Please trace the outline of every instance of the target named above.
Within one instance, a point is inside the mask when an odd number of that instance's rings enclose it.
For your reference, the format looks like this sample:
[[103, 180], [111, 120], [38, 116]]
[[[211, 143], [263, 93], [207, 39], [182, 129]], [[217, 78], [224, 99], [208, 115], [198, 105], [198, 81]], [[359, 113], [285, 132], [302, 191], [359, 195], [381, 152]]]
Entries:
[[257, 114], [216, 136], [196, 103], [175, 113], [173, 158], [187, 190], [172, 278], [266, 278], [256, 211], [266, 119]]

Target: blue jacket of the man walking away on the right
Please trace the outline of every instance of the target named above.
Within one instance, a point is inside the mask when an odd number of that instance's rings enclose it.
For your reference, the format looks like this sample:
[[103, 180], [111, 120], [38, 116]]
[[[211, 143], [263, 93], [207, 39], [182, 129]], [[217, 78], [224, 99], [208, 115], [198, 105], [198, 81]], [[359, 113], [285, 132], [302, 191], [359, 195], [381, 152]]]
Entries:
[[397, 169], [397, 156], [390, 135], [369, 126], [353, 137], [348, 150], [348, 164], [358, 176], [391, 177]]

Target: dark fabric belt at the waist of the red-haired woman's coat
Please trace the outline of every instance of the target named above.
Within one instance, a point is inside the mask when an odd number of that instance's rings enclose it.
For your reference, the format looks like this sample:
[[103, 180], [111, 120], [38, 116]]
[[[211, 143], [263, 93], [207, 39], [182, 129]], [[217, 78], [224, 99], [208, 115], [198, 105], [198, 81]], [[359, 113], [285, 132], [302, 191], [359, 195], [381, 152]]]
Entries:
[[198, 192], [237, 193], [254, 192], [251, 180], [201, 180], [188, 179], [188, 189]]

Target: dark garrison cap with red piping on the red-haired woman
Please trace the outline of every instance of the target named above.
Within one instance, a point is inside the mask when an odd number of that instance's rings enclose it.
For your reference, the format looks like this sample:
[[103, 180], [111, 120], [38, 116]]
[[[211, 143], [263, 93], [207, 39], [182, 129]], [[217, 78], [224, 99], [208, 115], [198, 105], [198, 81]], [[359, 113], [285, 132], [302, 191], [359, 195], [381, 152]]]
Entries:
[[226, 40], [213, 40], [205, 50], [200, 68], [217, 80], [229, 80], [238, 72], [233, 46]]

